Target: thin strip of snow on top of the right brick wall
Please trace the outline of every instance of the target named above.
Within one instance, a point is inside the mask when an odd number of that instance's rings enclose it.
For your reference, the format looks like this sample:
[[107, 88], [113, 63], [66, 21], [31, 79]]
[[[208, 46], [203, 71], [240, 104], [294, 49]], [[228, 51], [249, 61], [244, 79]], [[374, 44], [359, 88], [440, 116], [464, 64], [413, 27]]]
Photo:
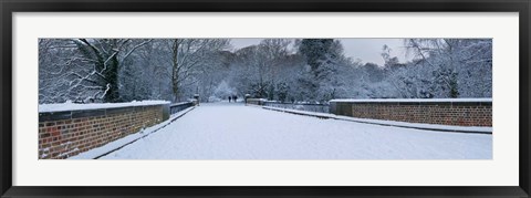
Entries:
[[330, 102], [348, 102], [348, 103], [456, 103], [456, 102], [473, 102], [473, 103], [492, 103], [492, 98], [377, 98], [377, 100], [331, 100]]

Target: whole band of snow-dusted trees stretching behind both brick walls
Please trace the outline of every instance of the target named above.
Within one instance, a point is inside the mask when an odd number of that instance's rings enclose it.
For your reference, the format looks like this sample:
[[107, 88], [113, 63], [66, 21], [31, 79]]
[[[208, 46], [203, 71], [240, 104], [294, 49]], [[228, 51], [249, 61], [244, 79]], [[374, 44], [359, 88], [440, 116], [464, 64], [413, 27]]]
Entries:
[[40, 39], [39, 103], [492, 95], [490, 39], [404, 39], [412, 61], [398, 62], [384, 45], [384, 65], [346, 58], [333, 39], [264, 39], [233, 52], [230, 41]]

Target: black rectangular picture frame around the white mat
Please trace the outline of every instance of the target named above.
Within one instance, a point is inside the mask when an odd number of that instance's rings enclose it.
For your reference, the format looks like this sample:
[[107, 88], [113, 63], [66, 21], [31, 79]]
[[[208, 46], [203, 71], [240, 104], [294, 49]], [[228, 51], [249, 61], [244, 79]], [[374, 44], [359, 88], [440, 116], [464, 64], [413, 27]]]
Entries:
[[[529, 0], [1, 0], [2, 197], [529, 197]], [[492, 187], [21, 187], [12, 185], [13, 12], [519, 12], [519, 186]]]

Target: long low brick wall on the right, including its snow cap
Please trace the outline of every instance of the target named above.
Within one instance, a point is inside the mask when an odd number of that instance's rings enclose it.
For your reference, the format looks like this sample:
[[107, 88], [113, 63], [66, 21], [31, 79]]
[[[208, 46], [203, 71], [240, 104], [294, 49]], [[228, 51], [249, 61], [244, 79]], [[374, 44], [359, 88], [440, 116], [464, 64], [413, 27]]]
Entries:
[[492, 98], [332, 100], [330, 113], [407, 123], [492, 126]]

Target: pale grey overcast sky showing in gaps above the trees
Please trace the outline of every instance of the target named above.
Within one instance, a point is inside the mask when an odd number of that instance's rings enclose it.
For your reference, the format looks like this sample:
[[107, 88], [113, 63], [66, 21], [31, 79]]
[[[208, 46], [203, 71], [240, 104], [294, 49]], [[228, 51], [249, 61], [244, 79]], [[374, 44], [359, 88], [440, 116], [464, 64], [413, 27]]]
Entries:
[[[262, 39], [232, 39], [235, 49], [241, 49], [260, 43]], [[343, 43], [345, 56], [360, 59], [363, 63], [373, 62], [378, 65], [384, 64], [382, 59], [382, 48], [387, 44], [393, 56], [397, 56], [400, 62], [406, 59], [403, 48], [403, 39], [340, 39]]]

